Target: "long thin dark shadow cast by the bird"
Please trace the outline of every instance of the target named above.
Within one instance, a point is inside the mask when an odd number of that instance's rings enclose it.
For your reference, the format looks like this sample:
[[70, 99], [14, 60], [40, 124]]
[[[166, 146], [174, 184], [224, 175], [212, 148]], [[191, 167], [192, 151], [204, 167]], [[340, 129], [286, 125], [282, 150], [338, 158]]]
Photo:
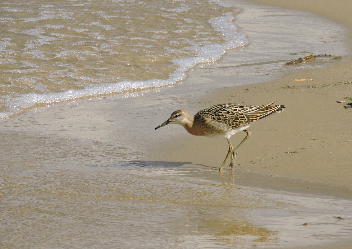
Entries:
[[[181, 168], [183, 165], [187, 168], [207, 168], [212, 167], [203, 164], [193, 164], [191, 162], [165, 162], [165, 161], [127, 161], [116, 162], [111, 164], [88, 164], [88, 167], [119, 167], [119, 168]], [[215, 168], [214, 168], [215, 169]]]

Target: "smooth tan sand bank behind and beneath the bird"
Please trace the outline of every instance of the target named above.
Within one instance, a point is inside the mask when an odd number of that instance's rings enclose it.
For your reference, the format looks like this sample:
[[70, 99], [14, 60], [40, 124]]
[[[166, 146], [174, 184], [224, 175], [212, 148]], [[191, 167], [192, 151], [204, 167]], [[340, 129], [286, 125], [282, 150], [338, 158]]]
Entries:
[[[287, 106], [283, 113], [251, 125], [252, 136], [237, 157], [239, 169], [352, 188], [352, 112], [343, 107], [345, 104], [336, 102], [351, 96], [352, 84], [347, 81], [351, 77], [347, 73], [350, 64], [340, 65], [297, 70], [263, 84], [226, 87], [200, 99], [200, 102], [210, 104], [237, 101], [253, 105], [273, 100]], [[313, 81], [292, 81], [298, 78], [312, 78]], [[202, 104], [200, 108], [206, 106]], [[240, 142], [244, 137], [244, 132], [239, 133], [233, 140]], [[226, 139], [209, 140], [191, 135], [184, 136], [176, 145], [174, 142], [172, 147], [168, 143], [161, 148], [172, 150], [172, 153], [157, 149], [156, 153], [162, 156], [156, 160], [175, 161], [182, 155], [187, 162], [208, 166], [221, 164], [227, 146]], [[209, 154], [212, 156], [204, 156]]]

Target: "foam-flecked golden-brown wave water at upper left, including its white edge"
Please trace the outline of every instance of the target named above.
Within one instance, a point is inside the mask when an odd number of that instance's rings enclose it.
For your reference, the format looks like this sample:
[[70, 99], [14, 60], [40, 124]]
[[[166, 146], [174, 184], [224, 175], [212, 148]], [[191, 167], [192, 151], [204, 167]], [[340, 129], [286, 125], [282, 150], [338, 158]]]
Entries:
[[238, 12], [222, 1], [3, 2], [0, 118], [175, 84], [196, 64], [248, 43], [231, 22]]

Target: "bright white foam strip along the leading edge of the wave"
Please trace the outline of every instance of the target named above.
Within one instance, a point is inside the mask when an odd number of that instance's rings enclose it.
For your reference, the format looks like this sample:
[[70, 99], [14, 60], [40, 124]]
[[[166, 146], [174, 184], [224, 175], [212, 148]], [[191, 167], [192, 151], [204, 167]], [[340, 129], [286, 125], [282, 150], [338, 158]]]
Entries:
[[7, 118], [15, 114], [19, 114], [26, 108], [30, 108], [37, 104], [50, 104], [63, 101], [69, 101], [82, 97], [99, 96], [110, 93], [121, 93], [126, 91], [143, 90], [152, 87], [162, 87], [176, 84], [186, 78], [186, 73], [197, 64], [212, 63], [219, 60], [226, 50], [244, 46], [248, 40], [244, 33], [237, 31], [237, 27], [233, 24], [234, 17], [230, 13], [222, 17], [211, 18], [210, 24], [215, 30], [222, 33], [223, 39], [226, 41], [223, 44], [213, 44], [204, 46], [193, 46], [191, 49], [196, 51], [196, 57], [174, 59], [172, 62], [178, 68], [172, 73], [169, 79], [153, 79], [146, 81], [121, 81], [118, 83], [99, 84], [94, 87], [81, 90], [68, 90], [58, 93], [29, 93], [23, 94], [6, 103], [9, 109], [7, 112], [0, 113], [0, 118]]

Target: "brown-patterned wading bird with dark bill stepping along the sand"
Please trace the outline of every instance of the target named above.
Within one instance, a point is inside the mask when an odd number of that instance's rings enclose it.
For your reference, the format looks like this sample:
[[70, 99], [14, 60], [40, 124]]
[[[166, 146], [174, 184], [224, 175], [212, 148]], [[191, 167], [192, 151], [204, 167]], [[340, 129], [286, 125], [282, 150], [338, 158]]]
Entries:
[[[168, 120], [156, 127], [155, 130], [168, 124], [179, 124], [188, 133], [195, 136], [226, 138], [229, 148], [219, 171], [224, 169], [224, 165], [230, 155], [231, 163], [229, 167], [233, 170], [238, 148], [251, 136], [251, 132], [247, 128], [253, 122], [271, 113], [282, 112], [283, 108], [285, 108], [285, 105], [273, 104], [274, 102], [260, 106], [217, 104], [197, 112], [194, 116], [185, 110], [177, 110], [171, 114]], [[233, 148], [230, 137], [239, 131], [246, 132], [247, 136]]]

